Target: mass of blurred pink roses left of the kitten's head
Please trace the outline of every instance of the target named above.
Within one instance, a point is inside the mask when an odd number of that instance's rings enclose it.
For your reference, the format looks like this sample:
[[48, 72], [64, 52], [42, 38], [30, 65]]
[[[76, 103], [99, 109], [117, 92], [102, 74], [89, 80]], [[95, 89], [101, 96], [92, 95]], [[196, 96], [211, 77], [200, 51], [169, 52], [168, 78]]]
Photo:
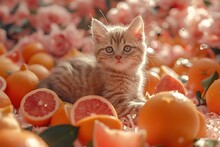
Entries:
[[[89, 25], [92, 17], [106, 13], [105, 0], [1, 0], [0, 42], [8, 50], [39, 41], [60, 57], [76, 48], [90, 52]], [[100, 10], [100, 11], [99, 11]]]

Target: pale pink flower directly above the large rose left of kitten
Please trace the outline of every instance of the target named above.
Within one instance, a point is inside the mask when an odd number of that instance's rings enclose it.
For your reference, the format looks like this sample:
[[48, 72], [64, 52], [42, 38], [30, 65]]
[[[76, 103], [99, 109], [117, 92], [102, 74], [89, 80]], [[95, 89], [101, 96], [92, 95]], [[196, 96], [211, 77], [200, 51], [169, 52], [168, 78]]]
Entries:
[[36, 27], [43, 29], [45, 32], [49, 32], [53, 23], [65, 27], [70, 21], [70, 13], [64, 7], [54, 4], [38, 9]]

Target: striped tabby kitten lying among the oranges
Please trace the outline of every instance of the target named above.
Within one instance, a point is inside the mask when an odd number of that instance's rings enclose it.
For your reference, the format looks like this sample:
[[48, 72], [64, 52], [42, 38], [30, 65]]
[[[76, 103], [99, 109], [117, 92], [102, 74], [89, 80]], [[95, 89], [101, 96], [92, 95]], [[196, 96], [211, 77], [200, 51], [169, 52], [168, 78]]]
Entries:
[[71, 103], [85, 95], [101, 95], [113, 104], [119, 117], [126, 116], [145, 103], [143, 20], [138, 16], [128, 26], [109, 26], [92, 19], [91, 32], [94, 55], [60, 63], [40, 87], [52, 89]]

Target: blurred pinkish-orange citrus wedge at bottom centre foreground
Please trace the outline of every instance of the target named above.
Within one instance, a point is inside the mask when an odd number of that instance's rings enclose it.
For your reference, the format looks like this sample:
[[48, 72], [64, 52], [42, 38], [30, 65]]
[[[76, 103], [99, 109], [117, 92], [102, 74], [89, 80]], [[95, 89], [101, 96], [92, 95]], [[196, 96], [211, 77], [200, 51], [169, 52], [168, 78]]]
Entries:
[[146, 131], [124, 131], [110, 129], [102, 122], [95, 121], [94, 147], [141, 147], [145, 145]]

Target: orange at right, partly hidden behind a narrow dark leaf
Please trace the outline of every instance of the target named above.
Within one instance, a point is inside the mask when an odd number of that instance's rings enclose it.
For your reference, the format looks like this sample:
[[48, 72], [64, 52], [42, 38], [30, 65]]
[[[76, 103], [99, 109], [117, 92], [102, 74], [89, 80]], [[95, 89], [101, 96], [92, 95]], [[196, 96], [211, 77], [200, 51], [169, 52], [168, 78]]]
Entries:
[[202, 80], [211, 76], [215, 71], [220, 74], [220, 66], [213, 59], [201, 58], [194, 61], [194, 64], [188, 71], [189, 80], [187, 88], [193, 93], [196, 91], [203, 92]]

